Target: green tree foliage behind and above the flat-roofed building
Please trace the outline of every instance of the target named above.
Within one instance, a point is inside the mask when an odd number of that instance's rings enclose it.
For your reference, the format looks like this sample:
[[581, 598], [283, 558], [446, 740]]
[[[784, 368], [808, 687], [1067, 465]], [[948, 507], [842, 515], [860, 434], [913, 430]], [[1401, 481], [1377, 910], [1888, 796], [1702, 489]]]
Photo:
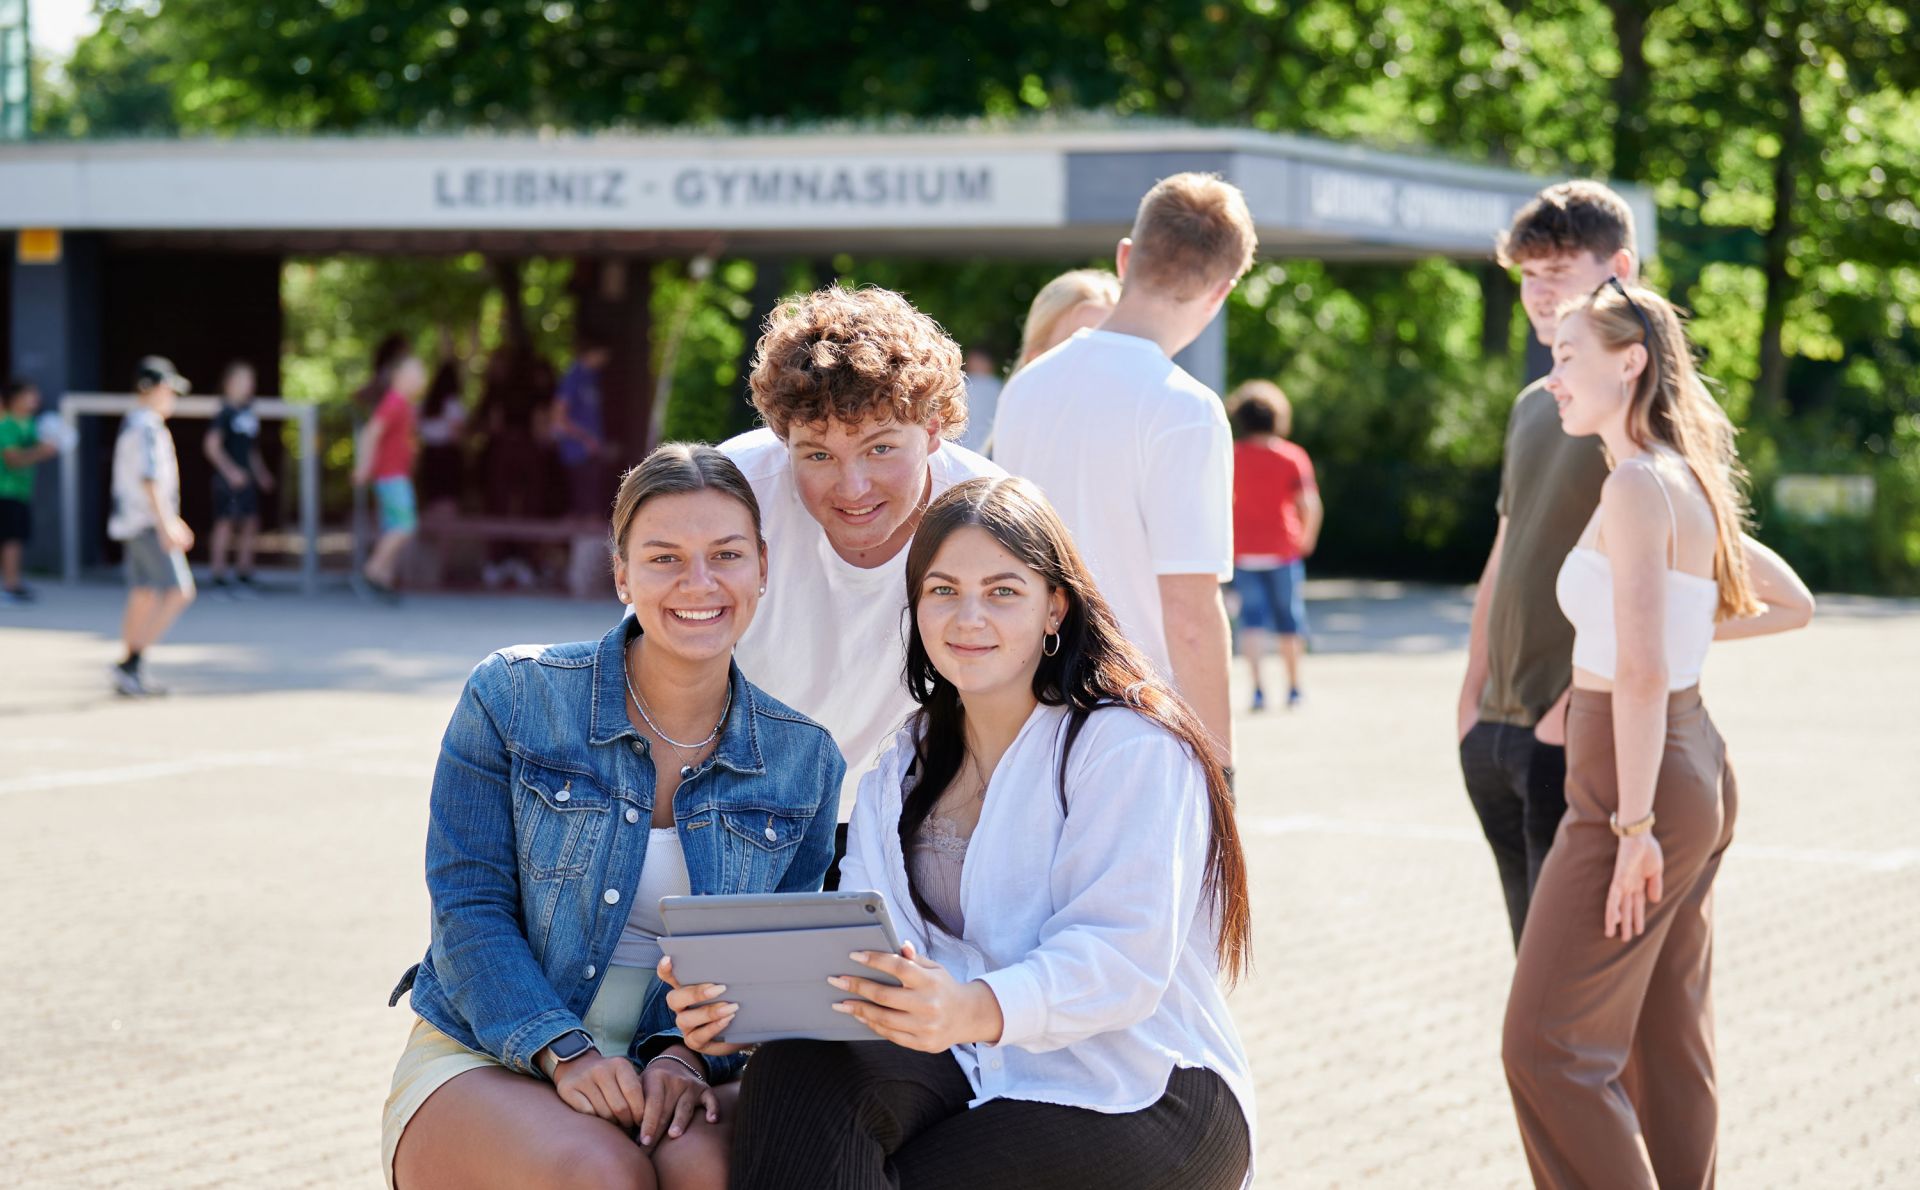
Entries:
[[[1876, 516], [1891, 509], [1891, 520], [1862, 530], [1866, 545], [1845, 562], [1812, 559], [1814, 578], [1920, 582], [1920, 526], [1899, 512], [1920, 489], [1920, 52], [1910, 0], [100, 8], [100, 31], [67, 63], [69, 92], [40, 109], [44, 134], [1100, 111], [1644, 180], [1661, 211], [1649, 274], [1695, 313], [1707, 372], [1747, 424], [1763, 505], [1764, 478], [1780, 470], [1870, 470], [1885, 493]], [[1048, 269], [843, 259], [801, 263], [791, 280], [837, 271], [899, 284], [964, 340], [1008, 351]], [[670, 424], [737, 424], [751, 294], [762, 278], [733, 261], [705, 280], [664, 267], [655, 282], [657, 336], [668, 313], [691, 311]], [[1334, 507], [1327, 547], [1352, 547], [1336, 562], [1417, 568], [1411, 559], [1471, 572], [1461, 559], [1492, 530], [1480, 491], [1521, 380], [1524, 321], [1513, 299], [1501, 273], [1446, 263], [1271, 261], [1236, 292], [1233, 378], [1281, 378], [1300, 405], [1302, 438], [1336, 464], [1329, 474], [1361, 476], [1350, 507], [1384, 501], [1388, 514], [1369, 511], [1367, 524]], [[716, 413], [703, 415], [680, 384], [705, 386]]]

